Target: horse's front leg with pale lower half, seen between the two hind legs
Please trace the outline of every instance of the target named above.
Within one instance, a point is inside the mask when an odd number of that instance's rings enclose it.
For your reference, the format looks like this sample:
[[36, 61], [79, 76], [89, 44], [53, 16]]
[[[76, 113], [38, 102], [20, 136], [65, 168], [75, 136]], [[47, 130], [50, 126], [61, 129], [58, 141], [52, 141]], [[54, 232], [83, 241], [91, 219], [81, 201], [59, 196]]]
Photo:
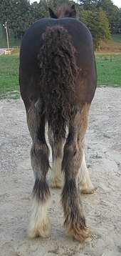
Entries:
[[51, 128], [48, 128], [48, 140], [51, 144], [53, 163], [51, 168], [50, 178], [48, 180], [50, 187], [62, 187], [63, 185], [63, 173], [61, 171], [61, 162], [63, 159], [63, 139], [59, 142], [55, 142], [53, 138], [53, 132]]

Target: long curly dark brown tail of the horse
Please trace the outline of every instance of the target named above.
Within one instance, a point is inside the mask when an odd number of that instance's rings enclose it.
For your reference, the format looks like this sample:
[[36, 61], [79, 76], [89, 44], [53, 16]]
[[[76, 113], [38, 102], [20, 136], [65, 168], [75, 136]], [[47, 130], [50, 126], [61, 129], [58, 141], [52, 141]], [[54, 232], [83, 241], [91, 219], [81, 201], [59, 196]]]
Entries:
[[46, 29], [38, 54], [41, 70], [40, 88], [48, 126], [55, 140], [65, 138], [65, 127], [75, 100], [75, 47], [63, 26]]

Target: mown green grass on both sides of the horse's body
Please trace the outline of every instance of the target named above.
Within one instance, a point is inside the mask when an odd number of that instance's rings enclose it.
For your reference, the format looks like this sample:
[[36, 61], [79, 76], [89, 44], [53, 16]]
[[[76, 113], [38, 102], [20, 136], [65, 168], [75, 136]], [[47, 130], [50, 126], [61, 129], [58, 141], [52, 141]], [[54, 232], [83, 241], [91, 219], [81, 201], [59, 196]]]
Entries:
[[[121, 87], [121, 53], [95, 52], [98, 86]], [[0, 56], [0, 98], [19, 94], [19, 54]]]

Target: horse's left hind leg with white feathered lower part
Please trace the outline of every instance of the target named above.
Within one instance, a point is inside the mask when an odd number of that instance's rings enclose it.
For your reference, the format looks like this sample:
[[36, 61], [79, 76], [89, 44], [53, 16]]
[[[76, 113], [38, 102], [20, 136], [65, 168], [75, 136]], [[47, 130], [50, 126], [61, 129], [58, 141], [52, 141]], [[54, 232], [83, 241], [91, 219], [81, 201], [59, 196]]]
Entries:
[[46, 174], [49, 168], [49, 149], [45, 139], [45, 118], [41, 113], [39, 102], [31, 104], [27, 112], [27, 122], [33, 140], [31, 166], [35, 176], [28, 236], [46, 237], [49, 227], [47, 209], [50, 191], [46, 182]]

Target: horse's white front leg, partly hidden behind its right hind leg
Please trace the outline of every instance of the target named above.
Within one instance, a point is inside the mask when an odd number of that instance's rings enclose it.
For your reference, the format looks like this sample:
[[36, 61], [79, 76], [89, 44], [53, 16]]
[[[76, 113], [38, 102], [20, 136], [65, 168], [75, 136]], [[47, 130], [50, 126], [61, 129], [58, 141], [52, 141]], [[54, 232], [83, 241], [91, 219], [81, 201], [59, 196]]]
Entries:
[[86, 164], [85, 164], [85, 152], [84, 152], [85, 138], [83, 139], [82, 147], [83, 147], [83, 161], [80, 167], [80, 172], [78, 174], [78, 183], [79, 183], [80, 191], [82, 193], [90, 194], [94, 192], [95, 188], [90, 180], [88, 168], [86, 167]]

